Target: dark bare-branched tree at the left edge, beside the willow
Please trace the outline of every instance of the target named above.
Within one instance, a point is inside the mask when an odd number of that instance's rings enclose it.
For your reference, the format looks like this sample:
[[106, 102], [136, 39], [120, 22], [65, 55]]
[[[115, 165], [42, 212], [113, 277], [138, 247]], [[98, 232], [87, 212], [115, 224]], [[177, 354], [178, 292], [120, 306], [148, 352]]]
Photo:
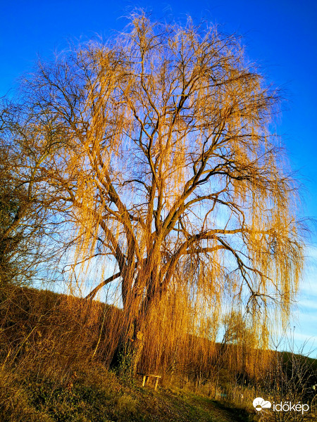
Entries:
[[[0, 290], [35, 283], [48, 262], [47, 196], [39, 174], [48, 151], [37, 151], [35, 130], [21, 108], [2, 101], [0, 116]], [[21, 125], [21, 122], [23, 124]], [[43, 134], [41, 133], [41, 136]], [[46, 245], [48, 246], [47, 239]], [[51, 262], [49, 263], [51, 264]]]

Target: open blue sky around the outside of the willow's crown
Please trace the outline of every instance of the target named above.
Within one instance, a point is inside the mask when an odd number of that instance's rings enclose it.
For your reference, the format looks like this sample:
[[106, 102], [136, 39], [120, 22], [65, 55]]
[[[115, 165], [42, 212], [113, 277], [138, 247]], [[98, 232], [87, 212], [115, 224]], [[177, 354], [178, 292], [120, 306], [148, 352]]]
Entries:
[[[17, 78], [32, 67], [37, 55], [49, 58], [68, 40], [96, 34], [106, 38], [121, 30], [135, 6], [154, 18], [184, 21], [191, 15], [217, 23], [243, 37], [250, 60], [287, 98], [278, 119], [290, 162], [303, 184], [303, 214], [317, 217], [317, 1], [316, 0], [0, 0], [0, 96], [10, 95]], [[313, 227], [312, 227], [313, 229]], [[306, 339], [317, 347], [317, 235], [311, 245], [297, 319], [290, 324], [297, 345]], [[308, 350], [308, 347], [306, 347]], [[316, 351], [312, 356], [316, 356]]]

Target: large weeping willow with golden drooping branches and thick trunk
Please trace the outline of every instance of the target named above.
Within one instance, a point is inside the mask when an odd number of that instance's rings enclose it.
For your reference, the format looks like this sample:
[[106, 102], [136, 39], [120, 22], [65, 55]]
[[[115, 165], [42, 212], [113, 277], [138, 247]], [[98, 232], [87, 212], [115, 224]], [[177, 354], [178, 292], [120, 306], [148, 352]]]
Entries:
[[239, 40], [132, 15], [116, 39], [39, 63], [23, 89], [58, 146], [39, 172], [77, 230], [73, 268], [112, 258], [87, 299], [120, 284], [121, 340], [214, 338], [230, 304], [265, 343], [269, 312], [290, 311], [302, 241], [270, 132], [277, 94]]

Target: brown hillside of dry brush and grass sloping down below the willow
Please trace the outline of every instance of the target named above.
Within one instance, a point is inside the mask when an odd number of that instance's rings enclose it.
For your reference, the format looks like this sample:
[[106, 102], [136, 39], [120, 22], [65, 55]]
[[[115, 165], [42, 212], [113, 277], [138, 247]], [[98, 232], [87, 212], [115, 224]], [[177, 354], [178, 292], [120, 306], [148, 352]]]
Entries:
[[[252, 407], [259, 390], [245, 381], [240, 385], [225, 367], [223, 391], [231, 388], [235, 394], [223, 399], [204, 384], [179, 388], [173, 378], [163, 377], [155, 391], [151, 385], [142, 388], [140, 376], [109, 371], [102, 356], [111, 339], [100, 321], [113, 315], [120, 319], [120, 309], [48, 290], [2, 292], [0, 422], [259, 420]], [[316, 369], [316, 360], [286, 352], [279, 356], [285, 373], [292, 369], [292, 356], [299, 369]]]

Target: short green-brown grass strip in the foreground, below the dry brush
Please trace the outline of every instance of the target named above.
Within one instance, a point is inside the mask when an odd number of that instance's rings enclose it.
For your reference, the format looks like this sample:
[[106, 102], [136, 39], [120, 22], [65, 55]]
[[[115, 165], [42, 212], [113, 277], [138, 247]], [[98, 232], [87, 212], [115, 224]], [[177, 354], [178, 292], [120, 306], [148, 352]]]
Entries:
[[39, 378], [37, 373], [0, 372], [1, 422], [239, 422], [254, 411], [230, 407], [177, 388], [142, 388], [103, 366]]

